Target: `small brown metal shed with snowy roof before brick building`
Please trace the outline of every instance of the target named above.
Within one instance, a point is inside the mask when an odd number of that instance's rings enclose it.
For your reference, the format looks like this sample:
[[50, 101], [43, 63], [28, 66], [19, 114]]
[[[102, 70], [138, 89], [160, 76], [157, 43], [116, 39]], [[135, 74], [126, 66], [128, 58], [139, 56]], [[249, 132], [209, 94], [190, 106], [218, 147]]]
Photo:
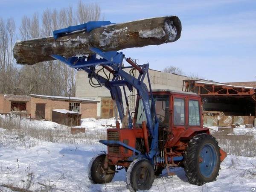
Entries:
[[52, 122], [67, 126], [79, 126], [81, 124], [81, 113], [68, 111], [66, 109], [53, 109]]

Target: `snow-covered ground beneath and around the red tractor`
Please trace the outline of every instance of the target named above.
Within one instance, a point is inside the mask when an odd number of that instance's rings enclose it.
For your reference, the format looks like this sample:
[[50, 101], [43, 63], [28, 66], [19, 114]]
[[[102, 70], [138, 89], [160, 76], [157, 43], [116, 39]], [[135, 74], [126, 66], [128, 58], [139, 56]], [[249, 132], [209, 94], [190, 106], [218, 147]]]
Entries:
[[[48, 121], [22, 119], [21, 122], [35, 129], [69, 131], [63, 125]], [[105, 134], [109, 125], [115, 125], [115, 120], [82, 119], [81, 127], [86, 128], [86, 133], [77, 138], [71, 136], [69, 141], [73, 142], [70, 143], [67, 140], [52, 143], [40, 138], [21, 137], [14, 131], [10, 133], [0, 128], [0, 192], [11, 192], [10, 186], [35, 192], [129, 192], [124, 169], [107, 184], [92, 184], [87, 176], [91, 158], [107, 150], [105, 145], [96, 142], [94, 133], [103, 137], [101, 133]], [[217, 180], [203, 186], [190, 184], [182, 168], [175, 168], [173, 172], [176, 175], [169, 176], [164, 170], [148, 192], [250, 192], [256, 188], [256, 157], [228, 155], [221, 163]]]

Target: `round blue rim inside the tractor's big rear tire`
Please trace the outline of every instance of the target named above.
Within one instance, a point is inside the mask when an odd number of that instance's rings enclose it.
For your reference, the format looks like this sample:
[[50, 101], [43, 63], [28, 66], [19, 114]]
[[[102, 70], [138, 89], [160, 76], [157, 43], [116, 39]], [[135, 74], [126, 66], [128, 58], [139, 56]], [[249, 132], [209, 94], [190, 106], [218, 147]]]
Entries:
[[199, 157], [199, 168], [201, 174], [206, 178], [210, 177], [215, 170], [216, 164], [217, 154], [215, 147], [212, 144], [207, 143], [202, 148]]

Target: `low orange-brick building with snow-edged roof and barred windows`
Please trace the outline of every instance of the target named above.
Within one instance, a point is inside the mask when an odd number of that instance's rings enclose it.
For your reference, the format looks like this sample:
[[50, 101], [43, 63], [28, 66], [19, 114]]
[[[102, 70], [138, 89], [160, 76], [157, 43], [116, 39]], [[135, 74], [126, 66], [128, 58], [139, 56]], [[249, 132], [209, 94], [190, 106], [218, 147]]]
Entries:
[[81, 118], [97, 117], [97, 103], [93, 99], [44, 95], [0, 95], [0, 113], [29, 114], [31, 118], [52, 120], [52, 110], [66, 109], [81, 113]]

